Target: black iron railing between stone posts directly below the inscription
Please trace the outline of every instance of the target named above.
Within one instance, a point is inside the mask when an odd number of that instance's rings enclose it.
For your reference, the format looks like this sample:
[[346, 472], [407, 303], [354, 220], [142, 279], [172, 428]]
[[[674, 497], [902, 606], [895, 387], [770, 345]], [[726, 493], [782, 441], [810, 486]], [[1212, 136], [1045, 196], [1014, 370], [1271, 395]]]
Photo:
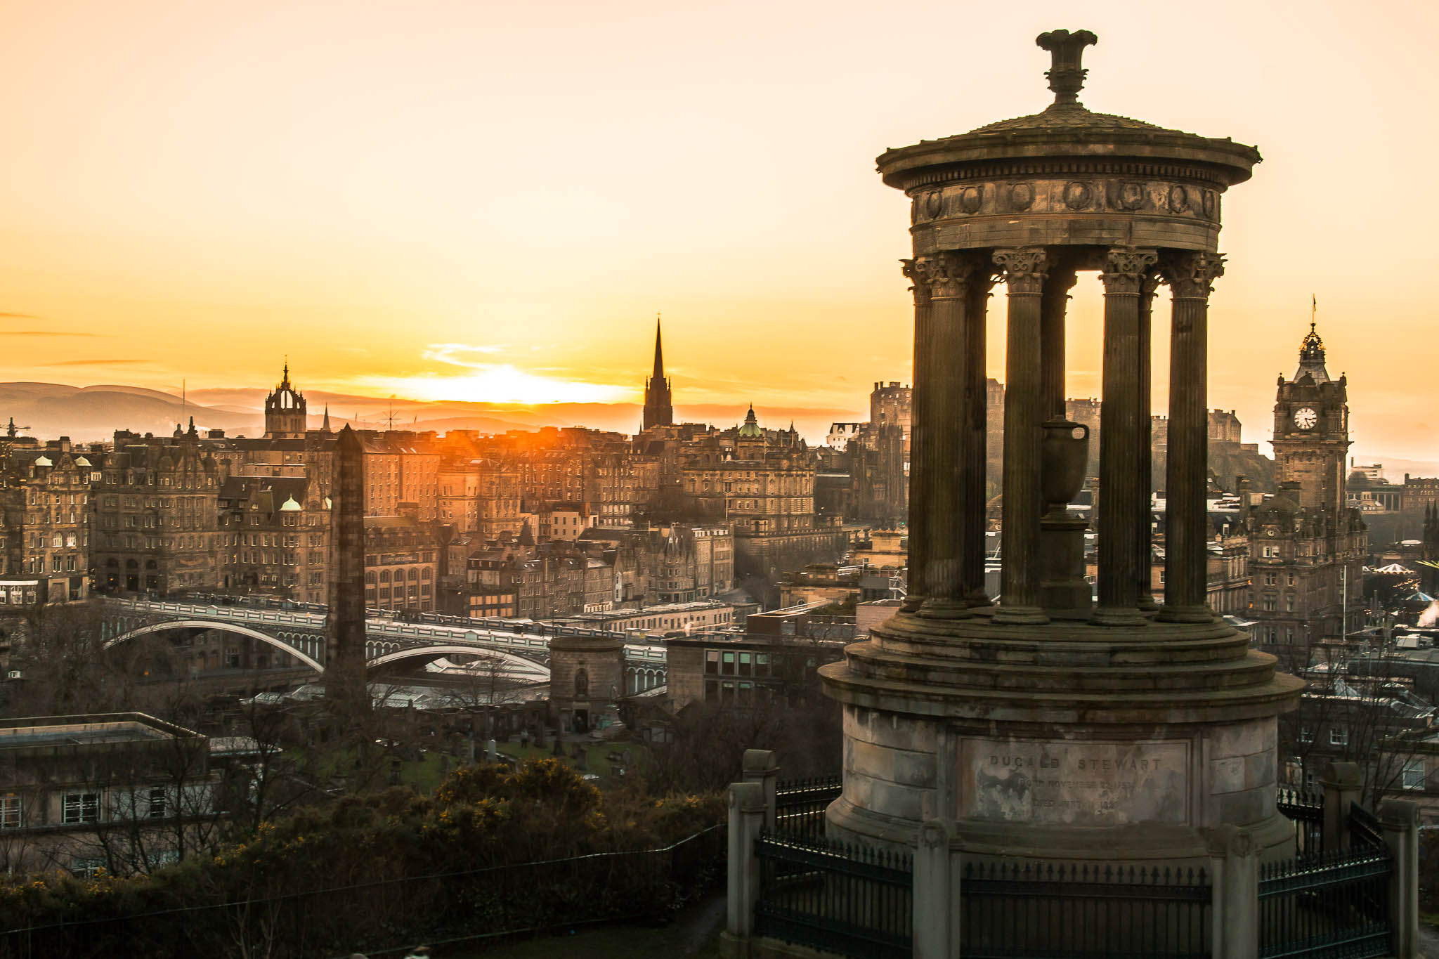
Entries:
[[966, 959], [1210, 955], [1203, 868], [966, 863], [960, 900]]

